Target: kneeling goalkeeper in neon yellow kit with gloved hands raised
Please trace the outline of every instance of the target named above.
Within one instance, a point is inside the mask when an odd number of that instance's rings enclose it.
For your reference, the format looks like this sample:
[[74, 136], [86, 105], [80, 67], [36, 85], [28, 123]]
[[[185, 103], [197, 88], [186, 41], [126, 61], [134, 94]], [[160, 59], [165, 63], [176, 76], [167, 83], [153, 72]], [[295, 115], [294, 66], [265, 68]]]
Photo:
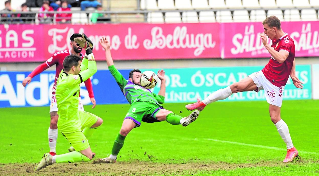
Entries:
[[63, 70], [59, 74], [56, 86], [56, 103], [59, 109], [58, 129], [75, 151], [56, 156], [46, 153], [34, 171], [54, 163], [88, 162], [95, 155], [87, 139], [92, 136], [97, 127], [102, 125], [103, 120], [92, 113], [78, 111], [80, 83], [89, 79], [97, 71], [92, 53], [92, 41], [85, 34], [82, 34], [82, 37], [74, 41], [78, 46], [85, 48], [86, 57], [82, 63], [78, 56], [65, 57]]

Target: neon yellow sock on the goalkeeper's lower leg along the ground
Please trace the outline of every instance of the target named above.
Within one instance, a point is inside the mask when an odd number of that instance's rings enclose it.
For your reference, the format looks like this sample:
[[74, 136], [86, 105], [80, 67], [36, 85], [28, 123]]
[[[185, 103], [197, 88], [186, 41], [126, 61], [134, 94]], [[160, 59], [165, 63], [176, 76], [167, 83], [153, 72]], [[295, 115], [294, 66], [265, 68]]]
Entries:
[[78, 151], [72, 151], [62, 155], [56, 155], [56, 163], [75, 163], [75, 162], [88, 162], [91, 161], [85, 155]]

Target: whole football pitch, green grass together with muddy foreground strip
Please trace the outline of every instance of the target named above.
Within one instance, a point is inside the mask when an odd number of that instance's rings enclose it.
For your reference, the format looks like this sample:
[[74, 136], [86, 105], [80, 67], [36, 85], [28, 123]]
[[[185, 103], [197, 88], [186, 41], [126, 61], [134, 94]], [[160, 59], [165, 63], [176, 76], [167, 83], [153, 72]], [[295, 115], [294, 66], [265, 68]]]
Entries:
[[[186, 103], [164, 108], [187, 116]], [[115, 164], [56, 164], [33, 173], [49, 151], [49, 108], [3, 108], [0, 123], [0, 175], [319, 175], [318, 100], [284, 101], [299, 159], [283, 164], [286, 144], [270, 120], [266, 101], [216, 102], [187, 127], [143, 123], [126, 137]], [[124, 105], [85, 106], [104, 120], [90, 144], [106, 157], [129, 109]], [[59, 134], [57, 153], [70, 144]]]

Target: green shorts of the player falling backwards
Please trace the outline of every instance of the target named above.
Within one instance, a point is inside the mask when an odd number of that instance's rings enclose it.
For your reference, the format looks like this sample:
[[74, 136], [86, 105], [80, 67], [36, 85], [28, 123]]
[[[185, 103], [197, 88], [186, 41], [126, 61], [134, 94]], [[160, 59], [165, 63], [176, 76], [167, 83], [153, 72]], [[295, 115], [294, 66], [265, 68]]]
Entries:
[[160, 122], [156, 119], [158, 110], [163, 109], [162, 106], [155, 102], [137, 101], [131, 104], [131, 107], [124, 119], [132, 119], [136, 126], [141, 126], [141, 122], [153, 123]]

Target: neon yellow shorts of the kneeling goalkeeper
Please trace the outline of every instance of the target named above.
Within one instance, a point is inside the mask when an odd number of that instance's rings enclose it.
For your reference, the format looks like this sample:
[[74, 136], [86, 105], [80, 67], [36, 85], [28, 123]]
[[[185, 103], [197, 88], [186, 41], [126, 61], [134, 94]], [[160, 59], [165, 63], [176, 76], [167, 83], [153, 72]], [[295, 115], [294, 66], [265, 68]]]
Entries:
[[98, 116], [85, 111], [78, 111], [78, 119], [67, 120], [58, 119], [58, 129], [76, 151], [81, 151], [90, 147], [82, 130], [91, 127], [98, 120]]

